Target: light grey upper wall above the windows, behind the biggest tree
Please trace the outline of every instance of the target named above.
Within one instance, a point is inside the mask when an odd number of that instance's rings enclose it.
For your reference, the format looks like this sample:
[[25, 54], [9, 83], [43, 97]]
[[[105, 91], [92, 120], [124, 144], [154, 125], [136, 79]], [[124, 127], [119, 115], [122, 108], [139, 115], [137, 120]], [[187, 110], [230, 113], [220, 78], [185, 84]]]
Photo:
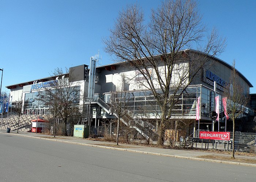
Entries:
[[[175, 66], [173, 71], [174, 75], [172, 77], [173, 87], [175, 87], [177, 83], [180, 82], [178, 74], [182, 75], [185, 73], [185, 75], [188, 76], [187, 68], [188, 63], [177, 64]], [[162, 76], [163, 82], [165, 82], [165, 67], [160, 66], [158, 69]], [[105, 68], [98, 68], [97, 70], [98, 71], [96, 72], [96, 76], [99, 79], [97, 85], [100, 85], [101, 88], [97, 87], [99, 90], [97, 90], [97, 92], [95, 93], [105, 93], [121, 90], [123, 84], [122, 75], [125, 78], [123, 90], [132, 91], [147, 89], [147, 80], [143, 77], [142, 74], [140, 74], [138, 70], [136, 70], [134, 67], [129, 66], [129, 64], [118, 65], [116, 66], [116, 70], [111, 69], [109, 71], [105, 70]], [[148, 71], [151, 73], [151, 77], [156, 78], [156, 73], [152, 68], [148, 68]], [[160, 88], [159, 83], [156, 79], [153, 79], [153, 83], [155, 88]]]

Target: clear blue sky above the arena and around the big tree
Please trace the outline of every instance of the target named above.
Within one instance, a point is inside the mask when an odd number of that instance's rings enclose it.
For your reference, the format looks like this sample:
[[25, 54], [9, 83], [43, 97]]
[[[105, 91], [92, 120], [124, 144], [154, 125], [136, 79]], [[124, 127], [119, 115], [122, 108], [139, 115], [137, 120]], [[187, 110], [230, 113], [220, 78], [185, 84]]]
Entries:
[[[112, 63], [103, 52], [102, 38], [123, 7], [135, 3], [146, 18], [157, 0], [0, 0], [0, 68], [5, 86], [51, 75], [59, 68], [90, 64], [99, 55], [101, 64]], [[199, 11], [209, 30], [227, 38], [218, 58], [232, 64], [255, 86], [256, 1], [199, 0]]]

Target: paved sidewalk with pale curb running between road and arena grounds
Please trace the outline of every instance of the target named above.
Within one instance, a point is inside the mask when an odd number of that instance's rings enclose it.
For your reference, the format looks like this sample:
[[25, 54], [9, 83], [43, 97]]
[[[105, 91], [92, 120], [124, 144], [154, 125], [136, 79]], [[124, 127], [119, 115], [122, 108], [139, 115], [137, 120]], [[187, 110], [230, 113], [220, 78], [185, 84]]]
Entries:
[[[6, 132], [6, 130], [1, 130], [0, 132]], [[26, 131], [19, 131], [18, 134], [17, 134], [17, 131], [11, 131], [10, 135], [20, 135], [23, 137], [40, 138], [45, 140], [57, 141], [57, 142], [72, 143], [76, 145], [86, 145], [86, 146], [101, 147], [106, 149], [131, 151], [131, 152], [138, 152], [138, 153], [151, 154], [151, 155], [163, 155], [168, 157], [256, 167], [256, 157], [253, 157], [253, 156], [235, 155], [236, 159], [231, 159], [231, 154], [219, 154], [219, 153], [213, 153], [213, 152], [194, 151], [194, 150], [162, 149], [162, 148], [156, 148], [156, 147], [146, 147], [146, 146], [127, 145], [127, 144], [120, 144], [119, 146], [116, 146], [115, 143], [111, 143], [111, 142], [92, 141], [92, 140], [76, 138], [76, 137], [53, 138], [52, 135], [37, 134], [37, 133], [31, 133]]]

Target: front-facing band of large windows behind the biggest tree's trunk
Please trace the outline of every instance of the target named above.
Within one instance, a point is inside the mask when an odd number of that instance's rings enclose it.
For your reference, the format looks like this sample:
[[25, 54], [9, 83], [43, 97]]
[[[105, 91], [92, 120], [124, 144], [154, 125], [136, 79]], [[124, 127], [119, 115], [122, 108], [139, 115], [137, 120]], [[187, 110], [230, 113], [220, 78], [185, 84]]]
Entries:
[[[205, 89], [205, 88], [204, 88]], [[204, 102], [207, 106], [211, 103], [208, 98], [211, 94], [210, 91], [204, 90], [206, 93], [204, 96]], [[158, 94], [162, 94], [159, 90]], [[172, 94], [172, 91], [170, 91]], [[197, 98], [201, 94], [201, 86], [199, 87], [189, 87], [177, 98], [176, 105], [172, 108], [172, 115], [195, 115], [196, 114], [196, 102]], [[151, 91], [133, 91], [126, 92], [126, 102], [125, 106], [128, 110], [132, 111], [138, 116], [157, 116], [161, 114], [159, 105], [157, 104]], [[109, 98], [106, 96], [105, 98]], [[108, 101], [107, 101], [108, 102]], [[207, 115], [209, 112], [209, 107], [204, 108], [204, 114]]]

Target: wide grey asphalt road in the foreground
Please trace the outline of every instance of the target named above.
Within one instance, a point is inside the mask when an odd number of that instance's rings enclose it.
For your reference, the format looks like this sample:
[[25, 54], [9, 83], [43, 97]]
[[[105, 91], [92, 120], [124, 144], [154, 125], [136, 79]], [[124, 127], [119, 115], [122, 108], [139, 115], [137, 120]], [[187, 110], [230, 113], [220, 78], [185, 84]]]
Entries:
[[255, 167], [0, 133], [0, 181], [255, 181]]

